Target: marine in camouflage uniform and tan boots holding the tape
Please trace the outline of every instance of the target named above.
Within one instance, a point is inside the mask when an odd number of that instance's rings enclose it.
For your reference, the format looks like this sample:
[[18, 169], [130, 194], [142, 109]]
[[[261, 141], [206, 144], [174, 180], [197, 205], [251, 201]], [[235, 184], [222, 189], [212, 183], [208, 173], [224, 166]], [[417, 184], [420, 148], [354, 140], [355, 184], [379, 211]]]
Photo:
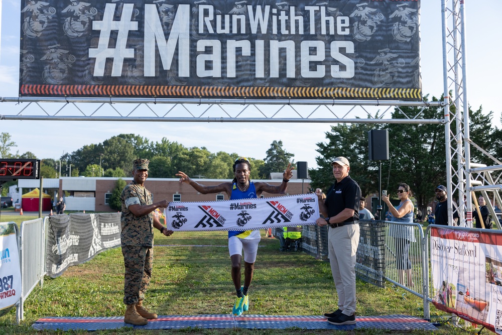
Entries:
[[124, 322], [137, 325], [147, 324], [147, 319], [157, 318], [157, 314], [150, 313], [143, 307], [145, 292], [152, 277], [153, 229], [157, 228], [165, 236], [173, 234], [153, 214], [157, 208], [167, 207], [169, 201], [152, 203], [152, 193], [144, 186], [148, 178], [148, 163], [146, 159], [133, 162], [133, 181], [124, 187], [120, 195], [120, 240], [126, 268], [123, 301], [127, 310]]

